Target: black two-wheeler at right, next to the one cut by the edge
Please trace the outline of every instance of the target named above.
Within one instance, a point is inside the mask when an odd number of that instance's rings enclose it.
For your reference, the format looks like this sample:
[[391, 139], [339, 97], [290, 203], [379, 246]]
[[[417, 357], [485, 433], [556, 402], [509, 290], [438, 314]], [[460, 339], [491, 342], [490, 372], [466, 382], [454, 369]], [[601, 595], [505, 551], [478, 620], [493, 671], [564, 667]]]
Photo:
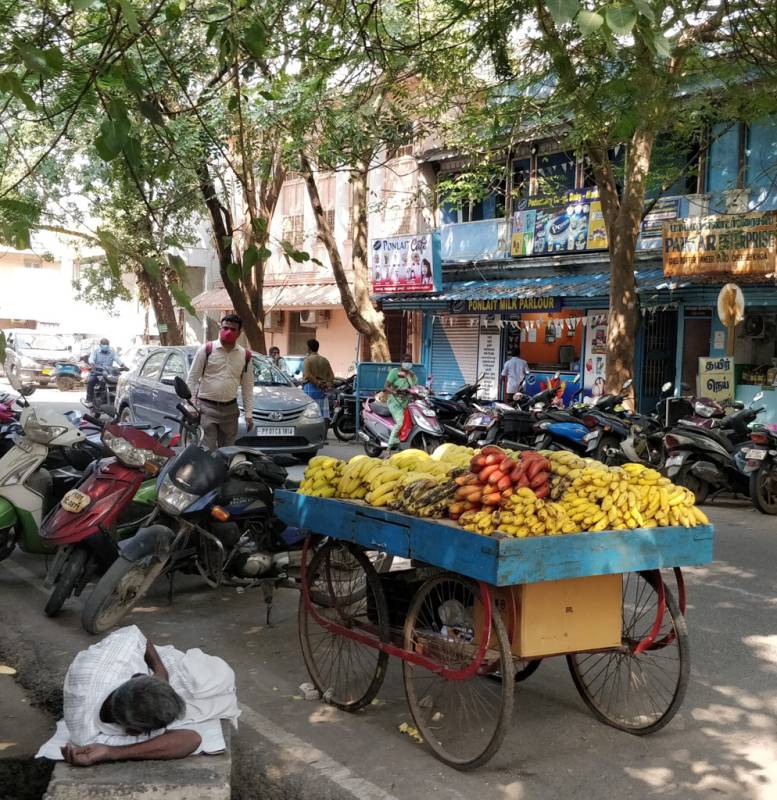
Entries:
[[750, 495], [750, 479], [739, 467], [740, 451], [751, 447], [749, 425], [765, 410], [763, 406], [753, 408], [753, 404], [762, 398], [763, 392], [758, 392], [749, 407], [714, 420], [708, 428], [680, 420], [664, 436], [667, 477], [690, 489], [697, 505], [704, 503], [710, 492]]

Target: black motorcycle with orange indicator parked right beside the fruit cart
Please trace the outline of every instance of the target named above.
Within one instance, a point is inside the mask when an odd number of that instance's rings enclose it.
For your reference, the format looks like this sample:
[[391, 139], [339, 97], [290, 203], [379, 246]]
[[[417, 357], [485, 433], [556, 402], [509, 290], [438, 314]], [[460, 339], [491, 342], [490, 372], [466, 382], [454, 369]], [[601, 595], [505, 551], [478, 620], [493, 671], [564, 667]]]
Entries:
[[[186, 384], [175, 381], [189, 401]], [[186, 447], [157, 477], [150, 524], [119, 543], [119, 557], [87, 599], [84, 629], [102, 633], [117, 624], [162, 574], [172, 599], [177, 571], [199, 573], [214, 588], [261, 586], [269, 620], [274, 587], [289, 577], [289, 551], [303, 541], [273, 516], [273, 492], [285, 482], [286, 470], [257, 448]]]

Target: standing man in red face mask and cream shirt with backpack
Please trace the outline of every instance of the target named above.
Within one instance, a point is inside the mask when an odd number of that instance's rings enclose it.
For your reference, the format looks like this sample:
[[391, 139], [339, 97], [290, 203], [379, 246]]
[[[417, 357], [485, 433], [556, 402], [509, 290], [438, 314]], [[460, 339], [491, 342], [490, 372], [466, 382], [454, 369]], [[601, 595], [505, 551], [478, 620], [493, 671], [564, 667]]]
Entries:
[[227, 314], [221, 320], [216, 342], [203, 345], [189, 370], [188, 384], [200, 410], [203, 446], [208, 450], [228, 447], [237, 438], [240, 408], [237, 390], [243, 394], [246, 430], [254, 427], [254, 370], [251, 351], [237, 344], [243, 320]]

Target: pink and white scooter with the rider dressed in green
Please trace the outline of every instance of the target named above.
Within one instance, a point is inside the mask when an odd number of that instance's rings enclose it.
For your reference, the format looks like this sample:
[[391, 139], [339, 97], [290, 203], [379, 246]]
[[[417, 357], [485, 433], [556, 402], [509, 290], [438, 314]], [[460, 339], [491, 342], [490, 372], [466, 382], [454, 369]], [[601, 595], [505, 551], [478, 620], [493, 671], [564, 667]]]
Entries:
[[[425, 386], [411, 386], [407, 389], [410, 402], [405, 408], [405, 418], [399, 432], [399, 450], [417, 448], [433, 453], [442, 444], [443, 430], [428, 402], [429, 390]], [[367, 398], [362, 405], [362, 425], [359, 437], [364, 443], [368, 456], [378, 456], [388, 446], [389, 436], [394, 427], [394, 418], [388, 406], [375, 398]]]

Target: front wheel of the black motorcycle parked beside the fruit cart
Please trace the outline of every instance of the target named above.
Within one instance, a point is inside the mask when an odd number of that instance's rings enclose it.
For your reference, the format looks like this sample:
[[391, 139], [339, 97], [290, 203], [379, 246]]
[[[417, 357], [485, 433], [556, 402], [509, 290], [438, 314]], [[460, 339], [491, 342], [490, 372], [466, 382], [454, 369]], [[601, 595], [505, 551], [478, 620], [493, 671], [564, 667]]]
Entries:
[[117, 558], [89, 595], [81, 612], [81, 625], [87, 633], [105, 633], [145, 596], [162, 573], [166, 561], [140, 564]]

